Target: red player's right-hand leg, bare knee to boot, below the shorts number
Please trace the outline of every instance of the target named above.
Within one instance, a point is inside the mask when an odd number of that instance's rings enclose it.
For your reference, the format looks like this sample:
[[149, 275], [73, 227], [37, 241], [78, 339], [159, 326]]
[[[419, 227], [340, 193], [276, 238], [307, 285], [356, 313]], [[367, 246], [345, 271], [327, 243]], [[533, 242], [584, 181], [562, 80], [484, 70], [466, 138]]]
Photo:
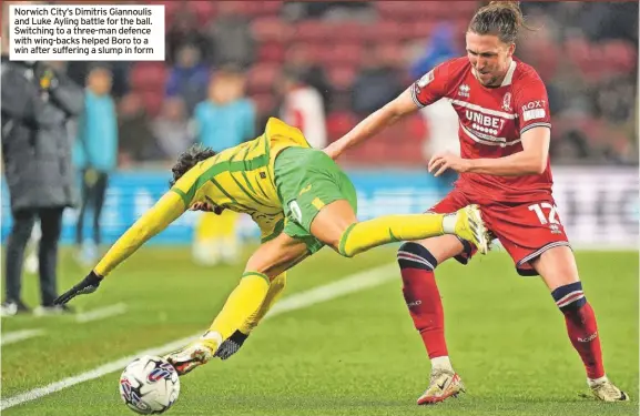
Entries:
[[566, 245], [549, 248], [530, 264], [542, 277], [565, 315], [569, 339], [585, 364], [587, 383], [593, 395], [605, 402], [629, 400], [629, 396], [605, 374], [596, 314], [582, 291], [571, 250]]

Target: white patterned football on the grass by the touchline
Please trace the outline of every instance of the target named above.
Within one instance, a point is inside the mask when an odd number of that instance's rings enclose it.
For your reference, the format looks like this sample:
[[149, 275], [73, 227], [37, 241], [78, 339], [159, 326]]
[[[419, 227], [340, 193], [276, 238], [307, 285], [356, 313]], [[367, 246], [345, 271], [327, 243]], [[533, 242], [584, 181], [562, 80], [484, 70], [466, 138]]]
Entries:
[[120, 376], [120, 396], [133, 412], [159, 415], [177, 400], [180, 378], [164, 358], [145, 355], [132, 361]]

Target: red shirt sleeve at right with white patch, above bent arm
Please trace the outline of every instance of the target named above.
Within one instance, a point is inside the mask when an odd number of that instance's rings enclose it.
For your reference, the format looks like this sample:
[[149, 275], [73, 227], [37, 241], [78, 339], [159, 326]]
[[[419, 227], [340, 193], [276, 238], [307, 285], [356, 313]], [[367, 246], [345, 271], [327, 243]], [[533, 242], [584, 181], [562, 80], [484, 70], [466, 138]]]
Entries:
[[535, 79], [525, 83], [514, 95], [514, 105], [518, 113], [520, 135], [534, 128], [551, 129], [549, 98], [542, 80]]

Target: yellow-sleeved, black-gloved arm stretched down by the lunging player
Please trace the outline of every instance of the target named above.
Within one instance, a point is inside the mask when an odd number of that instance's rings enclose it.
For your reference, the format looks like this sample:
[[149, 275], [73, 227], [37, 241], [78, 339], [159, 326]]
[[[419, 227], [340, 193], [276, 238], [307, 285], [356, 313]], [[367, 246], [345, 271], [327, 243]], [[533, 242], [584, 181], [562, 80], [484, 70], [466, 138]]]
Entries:
[[185, 211], [182, 197], [175, 192], [167, 192], [160, 201], [135, 222], [109, 250], [95, 268], [80, 283], [59, 296], [54, 303], [65, 304], [78, 295], [93, 293], [100, 282], [120, 263], [135, 253], [142, 244], [175, 221]]

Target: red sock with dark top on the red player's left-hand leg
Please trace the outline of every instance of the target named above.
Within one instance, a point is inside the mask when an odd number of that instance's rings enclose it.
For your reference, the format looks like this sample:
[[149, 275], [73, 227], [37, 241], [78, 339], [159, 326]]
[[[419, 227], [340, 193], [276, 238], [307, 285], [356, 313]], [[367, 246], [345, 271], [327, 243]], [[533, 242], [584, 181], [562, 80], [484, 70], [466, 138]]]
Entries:
[[424, 246], [405, 243], [398, 250], [398, 263], [403, 275], [403, 294], [429, 358], [448, 355], [445, 314], [434, 274], [436, 258]]

